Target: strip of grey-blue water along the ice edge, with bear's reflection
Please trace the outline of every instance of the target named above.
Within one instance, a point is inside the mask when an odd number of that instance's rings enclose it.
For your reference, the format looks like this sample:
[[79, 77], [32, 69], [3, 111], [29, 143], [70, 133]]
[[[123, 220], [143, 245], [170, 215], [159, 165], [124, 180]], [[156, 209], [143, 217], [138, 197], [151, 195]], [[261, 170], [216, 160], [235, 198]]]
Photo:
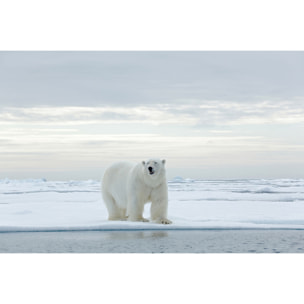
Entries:
[[1, 253], [304, 253], [303, 230], [0, 233]]

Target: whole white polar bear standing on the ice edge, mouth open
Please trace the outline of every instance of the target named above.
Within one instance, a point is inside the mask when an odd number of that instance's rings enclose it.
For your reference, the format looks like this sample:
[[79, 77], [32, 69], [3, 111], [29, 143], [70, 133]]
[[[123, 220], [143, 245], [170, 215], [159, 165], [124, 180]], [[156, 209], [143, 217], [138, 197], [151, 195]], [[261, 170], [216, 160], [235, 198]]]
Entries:
[[165, 162], [156, 158], [141, 163], [117, 162], [106, 169], [101, 190], [109, 220], [148, 222], [143, 211], [144, 205], [151, 202], [151, 220], [172, 223], [167, 219]]

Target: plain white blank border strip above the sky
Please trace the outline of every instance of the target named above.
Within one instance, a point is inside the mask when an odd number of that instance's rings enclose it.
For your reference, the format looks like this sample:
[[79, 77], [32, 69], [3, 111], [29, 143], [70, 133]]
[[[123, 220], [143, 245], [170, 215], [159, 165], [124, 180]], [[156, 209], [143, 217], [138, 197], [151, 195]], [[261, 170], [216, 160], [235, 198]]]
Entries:
[[303, 50], [298, 0], [1, 1], [2, 50]]

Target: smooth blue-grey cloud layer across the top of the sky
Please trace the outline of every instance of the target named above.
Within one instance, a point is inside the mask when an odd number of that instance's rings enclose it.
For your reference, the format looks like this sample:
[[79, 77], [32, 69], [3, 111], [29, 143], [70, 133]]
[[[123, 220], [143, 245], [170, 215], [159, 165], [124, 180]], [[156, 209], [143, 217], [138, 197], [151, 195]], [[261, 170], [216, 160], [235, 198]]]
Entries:
[[5, 106], [250, 103], [304, 96], [304, 52], [0, 52]]

